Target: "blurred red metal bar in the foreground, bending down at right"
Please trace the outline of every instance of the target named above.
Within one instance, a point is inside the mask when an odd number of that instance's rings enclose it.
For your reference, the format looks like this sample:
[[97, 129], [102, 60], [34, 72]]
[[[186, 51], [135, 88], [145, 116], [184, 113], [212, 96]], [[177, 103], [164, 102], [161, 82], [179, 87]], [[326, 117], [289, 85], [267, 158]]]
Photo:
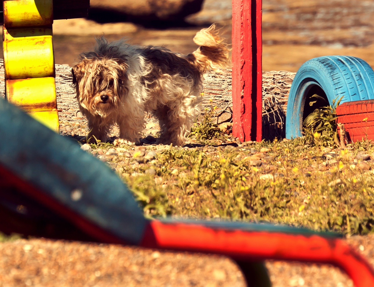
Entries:
[[140, 244], [148, 248], [223, 254], [238, 261], [292, 260], [330, 263], [343, 269], [356, 287], [374, 286], [374, 270], [341, 239], [295, 233], [209, 228], [152, 221]]

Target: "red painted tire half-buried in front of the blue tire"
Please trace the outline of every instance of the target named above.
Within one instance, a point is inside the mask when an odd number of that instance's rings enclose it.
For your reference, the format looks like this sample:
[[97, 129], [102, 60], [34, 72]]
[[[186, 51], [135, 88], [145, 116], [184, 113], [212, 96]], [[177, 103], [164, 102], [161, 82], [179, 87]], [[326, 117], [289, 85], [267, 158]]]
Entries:
[[374, 140], [374, 100], [340, 104], [336, 113], [350, 141]]

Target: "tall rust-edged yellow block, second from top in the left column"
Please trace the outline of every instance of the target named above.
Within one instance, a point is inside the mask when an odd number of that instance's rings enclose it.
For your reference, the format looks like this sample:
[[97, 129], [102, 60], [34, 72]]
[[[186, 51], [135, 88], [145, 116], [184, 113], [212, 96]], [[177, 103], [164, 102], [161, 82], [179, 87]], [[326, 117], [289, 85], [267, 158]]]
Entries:
[[52, 36], [3, 41], [3, 53], [6, 79], [55, 76]]

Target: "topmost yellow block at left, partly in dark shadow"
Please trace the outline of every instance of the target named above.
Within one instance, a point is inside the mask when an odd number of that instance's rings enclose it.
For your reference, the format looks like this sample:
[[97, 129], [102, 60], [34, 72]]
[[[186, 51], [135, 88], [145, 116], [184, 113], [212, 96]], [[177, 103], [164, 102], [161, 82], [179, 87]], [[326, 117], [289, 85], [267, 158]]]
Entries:
[[52, 25], [52, 0], [5, 0], [3, 3], [4, 26], [36, 27]]

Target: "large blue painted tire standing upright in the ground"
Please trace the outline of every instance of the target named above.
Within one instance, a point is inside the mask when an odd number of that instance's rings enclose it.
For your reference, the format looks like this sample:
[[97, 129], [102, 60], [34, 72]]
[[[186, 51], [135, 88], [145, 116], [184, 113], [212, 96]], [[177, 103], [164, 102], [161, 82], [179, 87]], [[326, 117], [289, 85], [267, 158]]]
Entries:
[[350, 56], [324, 56], [305, 62], [289, 91], [286, 138], [302, 135], [303, 120], [315, 109], [308, 99], [315, 93], [324, 94], [330, 105], [340, 98], [340, 103], [374, 99], [374, 71], [364, 60]]

